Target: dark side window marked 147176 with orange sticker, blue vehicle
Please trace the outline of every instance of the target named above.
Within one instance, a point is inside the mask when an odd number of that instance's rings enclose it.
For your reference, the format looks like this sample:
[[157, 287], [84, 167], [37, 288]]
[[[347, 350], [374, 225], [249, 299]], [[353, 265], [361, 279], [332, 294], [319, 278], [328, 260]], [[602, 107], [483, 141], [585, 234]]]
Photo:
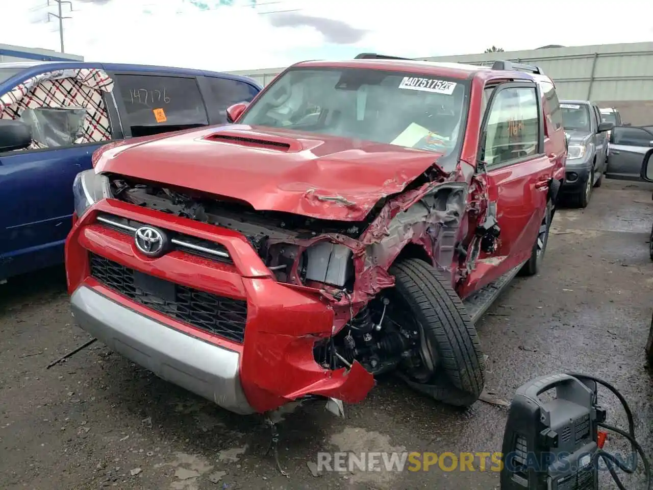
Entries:
[[116, 75], [134, 137], [208, 125], [195, 78]]

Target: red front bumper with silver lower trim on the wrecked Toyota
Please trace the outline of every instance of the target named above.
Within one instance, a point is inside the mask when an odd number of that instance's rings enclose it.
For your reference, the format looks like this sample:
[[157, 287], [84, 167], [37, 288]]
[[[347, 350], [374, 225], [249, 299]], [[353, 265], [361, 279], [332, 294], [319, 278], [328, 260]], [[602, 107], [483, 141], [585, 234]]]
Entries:
[[[99, 214], [209, 240], [223, 246], [232, 261], [221, 263], [183, 250], [144, 257], [131, 235], [106, 227]], [[133, 289], [125, 292], [93, 272], [91, 257], [110, 261], [108, 267], [129, 280], [139, 272], [172, 283], [195, 304], [202, 295], [246, 302], [242, 337], [227, 338], [202, 327], [201, 321], [193, 323], [188, 315], [171, 316], [167, 311], [174, 310], [139, 301]], [[66, 242], [66, 272], [82, 329], [227, 410], [263, 413], [307, 395], [355, 403], [374, 386], [373, 376], [358, 363], [349, 370], [329, 370], [315, 361], [315, 342], [333, 334], [330, 303], [316, 289], [277, 282], [246, 237], [234, 231], [105, 199], [76, 221]], [[196, 308], [195, 313], [206, 319], [206, 310]]]

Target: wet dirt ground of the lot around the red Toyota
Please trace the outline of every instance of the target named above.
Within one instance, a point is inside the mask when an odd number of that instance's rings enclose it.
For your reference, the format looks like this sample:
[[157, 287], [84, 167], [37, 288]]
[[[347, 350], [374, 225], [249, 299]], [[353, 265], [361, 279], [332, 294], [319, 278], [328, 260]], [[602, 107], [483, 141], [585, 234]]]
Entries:
[[[510, 399], [535, 376], [577, 370], [624, 393], [653, 451], [653, 382], [643, 346], [653, 309], [651, 189], [608, 181], [584, 210], [561, 210], [546, 269], [516, 280], [478, 325], [487, 386]], [[495, 472], [347, 472], [313, 476], [318, 451], [498, 451], [506, 410], [460, 413], [392, 380], [337, 419], [322, 404], [281, 424], [281, 476], [257, 417], [238, 417], [95, 345], [74, 327], [61, 270], [0, 287], [2, 489], [494, 489]], [[609, 421], [624, 425], [612, 399]], [[609, 440], [607, 448], [616, 448]], [[214, 482], [212, 482], [214, 480]], [[641, 488], [625, 478], [631, 488]], [[609, 488], [609, 487], [605, 487]]]

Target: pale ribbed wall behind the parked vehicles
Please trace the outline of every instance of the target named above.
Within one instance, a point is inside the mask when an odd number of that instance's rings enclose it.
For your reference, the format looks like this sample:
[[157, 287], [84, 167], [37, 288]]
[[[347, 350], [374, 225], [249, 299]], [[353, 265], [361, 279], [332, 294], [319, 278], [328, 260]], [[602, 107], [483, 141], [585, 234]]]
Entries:
[[[388, 53], [400, 55], [400, 53]], [[653, 124], [653, 42], [597, 44], [503, 53], [421, 58], [471, 65], [491, 65], [509, 59], [538, 65], [556, 82], [561, 99], [590, 99], [616, 107], [624, 122]], [[283, 68], [231, 72], [265, 86]]]

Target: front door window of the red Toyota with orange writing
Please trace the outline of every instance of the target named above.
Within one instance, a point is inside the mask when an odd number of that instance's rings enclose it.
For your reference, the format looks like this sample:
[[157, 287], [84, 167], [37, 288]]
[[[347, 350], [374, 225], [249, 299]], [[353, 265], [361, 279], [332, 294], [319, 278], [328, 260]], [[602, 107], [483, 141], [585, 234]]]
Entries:
[[537, 154], [538, 105], [535, 88], [505, 88], [496, 94], [481, 155], [488, 167]]

